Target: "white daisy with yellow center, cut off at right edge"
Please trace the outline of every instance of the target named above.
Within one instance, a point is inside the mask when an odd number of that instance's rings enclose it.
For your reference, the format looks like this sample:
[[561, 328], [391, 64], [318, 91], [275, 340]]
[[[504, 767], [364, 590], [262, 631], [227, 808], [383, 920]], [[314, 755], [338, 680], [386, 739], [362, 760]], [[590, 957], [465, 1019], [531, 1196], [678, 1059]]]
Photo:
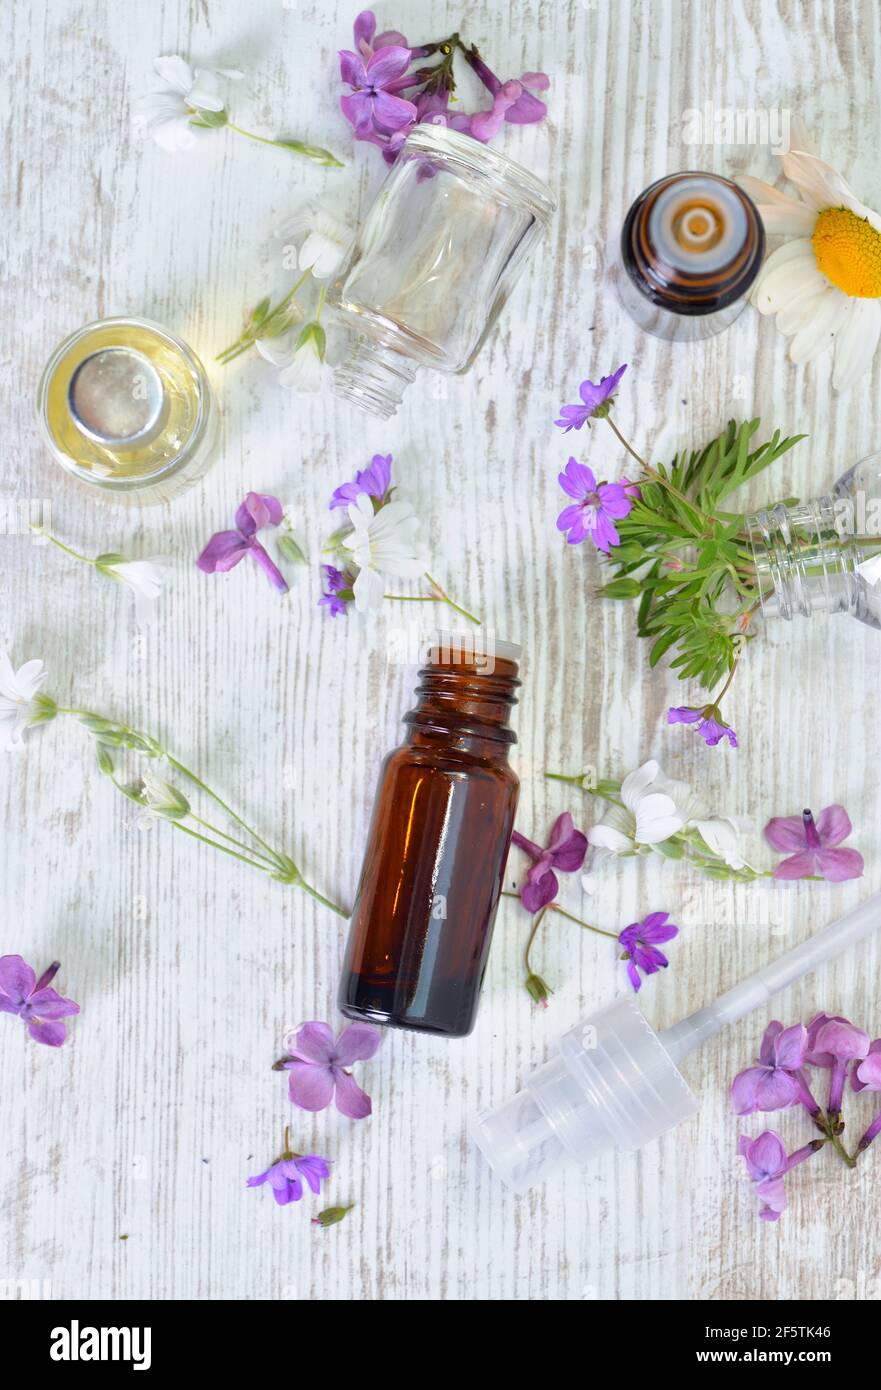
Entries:
[[832, 385], [846, 391], [871, 367], [881, 335], [881, 217], [816, 154], [800, 121], [782, 163], [799, 199], [739, 178], [766, 231], [791, 238], [761, 267], [753, 303], [777, 316], [792, 361], [831, 348]]

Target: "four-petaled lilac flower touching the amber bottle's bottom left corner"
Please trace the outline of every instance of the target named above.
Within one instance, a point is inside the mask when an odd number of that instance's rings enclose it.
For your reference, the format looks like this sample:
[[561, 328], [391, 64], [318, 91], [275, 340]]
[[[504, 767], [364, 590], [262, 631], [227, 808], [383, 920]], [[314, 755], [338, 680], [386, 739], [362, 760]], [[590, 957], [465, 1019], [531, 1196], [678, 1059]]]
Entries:
[[279, 1070], [290, 1073], [292, 1102], [302, 1111], [322, 1111], [336, 1098], [340, 1115], [364, 1119], [372, 1109], [370, 1097], [345, 1069], [353, 1062], [367, 1062], [381, 1040], [379, 1029], [370, 1023], [350, 1023], [336, 1041], [327, 1023], [304, 1023], [292, 1055], [277, 1063]]

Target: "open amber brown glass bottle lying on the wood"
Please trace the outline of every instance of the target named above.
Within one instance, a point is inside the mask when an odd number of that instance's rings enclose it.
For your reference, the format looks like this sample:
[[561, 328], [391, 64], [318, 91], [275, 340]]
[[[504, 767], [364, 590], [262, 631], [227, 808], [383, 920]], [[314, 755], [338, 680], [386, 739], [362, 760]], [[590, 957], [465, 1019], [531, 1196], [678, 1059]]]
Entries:
[[350, 1019], [474, 1027], [520, 783], [507, 753], [520, 648], [428, 653], [407, 741], [385, 759], [339, 991]]

